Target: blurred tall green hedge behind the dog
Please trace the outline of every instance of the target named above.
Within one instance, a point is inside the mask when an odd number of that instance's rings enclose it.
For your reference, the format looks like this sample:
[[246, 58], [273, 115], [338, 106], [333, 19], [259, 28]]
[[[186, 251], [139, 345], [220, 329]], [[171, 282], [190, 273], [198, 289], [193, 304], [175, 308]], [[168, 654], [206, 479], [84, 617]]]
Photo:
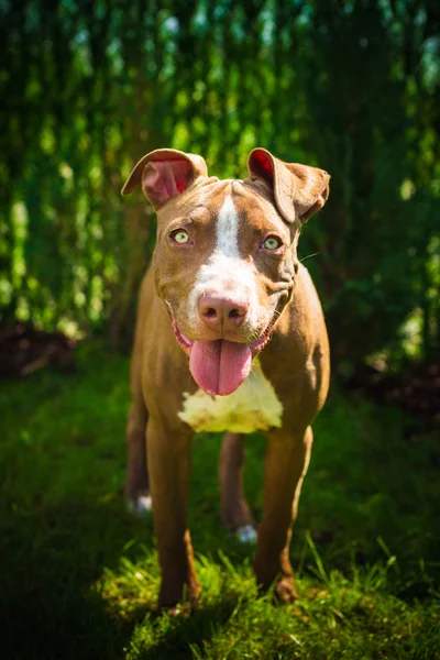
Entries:
[[[119, 190], [158, 146], [243, 176], [260, 144], [332, 175], [300, 243], [333, 355], [439, 350], [433, 0], [3, 2], [0, 308], [130, 324], [153, 221]], [[414, 320], [417, 319], [415, 323]], [[365, 332], [364, 329], [367, 329]], [[362, 343], [355, 341], [362, 332]]]

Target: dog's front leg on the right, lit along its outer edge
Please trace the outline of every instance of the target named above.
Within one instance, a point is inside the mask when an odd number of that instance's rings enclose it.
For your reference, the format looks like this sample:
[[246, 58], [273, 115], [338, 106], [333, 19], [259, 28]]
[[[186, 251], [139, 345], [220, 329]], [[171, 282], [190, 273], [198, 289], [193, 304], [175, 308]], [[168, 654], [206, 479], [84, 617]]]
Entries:
[[283, 601], [296, 597], [288, 551], [312, 438], [310, 427], [294, 436], [283, 429], [267, 433], [263, 518], [254, 571], [257, 584], [264, 590], [278, 578], [275, 592]]

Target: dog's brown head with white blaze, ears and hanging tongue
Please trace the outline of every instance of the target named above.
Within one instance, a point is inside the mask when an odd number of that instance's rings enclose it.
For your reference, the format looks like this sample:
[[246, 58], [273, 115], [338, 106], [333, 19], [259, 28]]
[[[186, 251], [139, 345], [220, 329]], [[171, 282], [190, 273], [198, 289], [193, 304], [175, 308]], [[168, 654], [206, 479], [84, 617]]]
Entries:
[[300, 228], [326, 204], [329, 175], [251, 152], [250, 178], [208, 177], [201, 156], [157, 150], [144, 156], [122, 195], [138, 185], [157, 213], [157, 295], [189, 355], [198, 385], [228, 395], [249, 375], [290, 299]]

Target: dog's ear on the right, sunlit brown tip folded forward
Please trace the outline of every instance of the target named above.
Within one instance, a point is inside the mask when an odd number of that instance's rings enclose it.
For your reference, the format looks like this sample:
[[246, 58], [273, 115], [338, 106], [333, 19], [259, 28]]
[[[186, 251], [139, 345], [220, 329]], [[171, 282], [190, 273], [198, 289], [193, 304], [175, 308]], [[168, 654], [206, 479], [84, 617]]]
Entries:
[[264, 179], [274, 190], [275, 204], [286, 222], [307, 222], [329, 196], [330, 175], [318, 167], [284, 163], [265, 148], [254, 148], [248, 158], [252, 177]]

